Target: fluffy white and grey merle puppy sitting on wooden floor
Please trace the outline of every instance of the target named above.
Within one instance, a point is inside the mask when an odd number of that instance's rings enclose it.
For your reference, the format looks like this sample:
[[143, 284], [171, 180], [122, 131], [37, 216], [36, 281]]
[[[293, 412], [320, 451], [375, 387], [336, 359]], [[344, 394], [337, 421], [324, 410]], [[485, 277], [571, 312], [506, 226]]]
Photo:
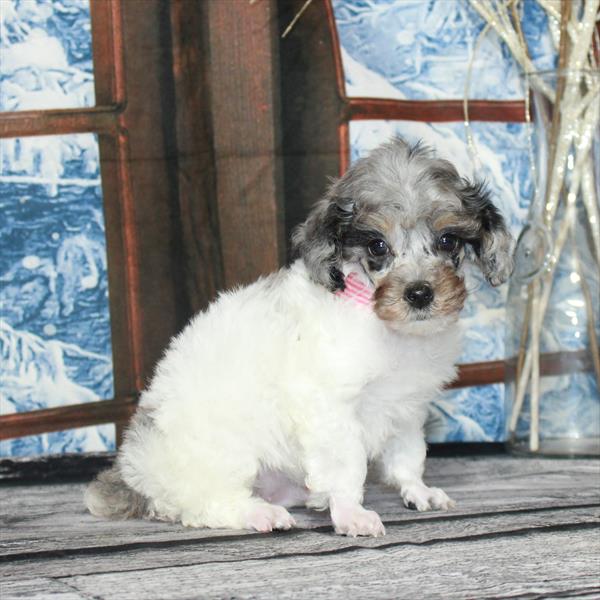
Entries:
[[288, 529], [286, 506], [383, 535], [367, 464], [404, 504], [448, 509], [422, 480], [429, 402], [455, 376], [463, 261], [506, 280], [513, 242], [481, 184], [395, 139], [332, 184], [290, 267], [222, 294], [158, 364], [95, 514]]

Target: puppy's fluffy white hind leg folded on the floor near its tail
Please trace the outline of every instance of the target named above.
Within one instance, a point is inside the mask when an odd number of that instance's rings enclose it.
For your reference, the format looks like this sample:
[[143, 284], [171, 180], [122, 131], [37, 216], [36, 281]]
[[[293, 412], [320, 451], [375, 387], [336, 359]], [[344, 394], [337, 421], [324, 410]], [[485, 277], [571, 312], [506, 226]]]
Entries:
[[211, 438], [185, 432], [165, 436], [158, 428], [134, 430], [119, 457], [120, 475], [147, 499], [148, 516], [180, 520], [186, 527], [290, 529], [294, 519], [283, 506], [253, 495], [251, 482], [259, 465], [252, 446], [235, 430]]

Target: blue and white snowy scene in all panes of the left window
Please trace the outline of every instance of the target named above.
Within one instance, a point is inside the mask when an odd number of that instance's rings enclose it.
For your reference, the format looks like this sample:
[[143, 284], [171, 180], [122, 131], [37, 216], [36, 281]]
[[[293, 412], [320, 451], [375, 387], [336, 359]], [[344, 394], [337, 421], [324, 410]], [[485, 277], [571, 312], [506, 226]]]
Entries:
[[[0, 1], [0, 109], [93, 106], [89, 0]], [[0, 412], [113, 396], [95, 135], [0, 140]], [[114, 427], [0, 442], [0, 455], [114, 447]]]

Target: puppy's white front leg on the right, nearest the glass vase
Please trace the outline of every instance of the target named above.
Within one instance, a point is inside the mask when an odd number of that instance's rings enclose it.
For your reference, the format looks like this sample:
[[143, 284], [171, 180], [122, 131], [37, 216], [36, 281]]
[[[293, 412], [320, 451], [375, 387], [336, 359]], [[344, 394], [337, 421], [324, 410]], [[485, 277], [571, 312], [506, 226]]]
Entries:
[[423, 431], [416, 424], [414, 429], [398, 431], [381, 456], [384, 479], [400, 490], [407, 508], [418, 511], [453, 508], [455, 503], [446, 492], [423, 483], [426, 453]]

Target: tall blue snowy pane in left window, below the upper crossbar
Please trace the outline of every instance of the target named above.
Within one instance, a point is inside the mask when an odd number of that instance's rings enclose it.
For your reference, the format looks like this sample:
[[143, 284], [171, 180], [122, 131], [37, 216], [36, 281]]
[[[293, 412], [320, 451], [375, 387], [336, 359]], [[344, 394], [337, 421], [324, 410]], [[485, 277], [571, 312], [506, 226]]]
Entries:
[[0, 150], [0, 411], [112, 398], [96, 136], [4, 139]]

